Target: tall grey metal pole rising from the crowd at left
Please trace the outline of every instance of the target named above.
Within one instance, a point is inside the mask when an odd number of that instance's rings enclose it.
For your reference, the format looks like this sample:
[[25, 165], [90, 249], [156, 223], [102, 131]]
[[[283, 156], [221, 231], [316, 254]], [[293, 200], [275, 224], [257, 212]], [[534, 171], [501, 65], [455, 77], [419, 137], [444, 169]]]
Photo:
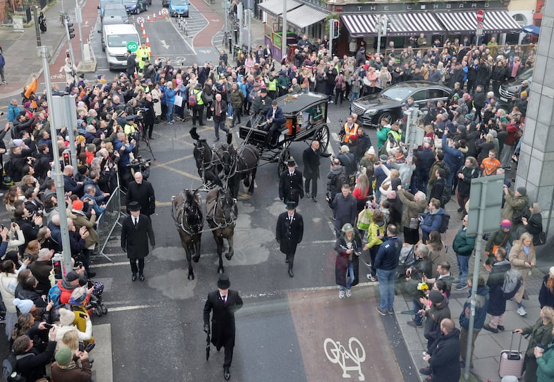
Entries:
[[[71, 44], [70, 44], [71, 45]], [[48, 100], [52, 99], [52, 84], [50, 82], [50, 59], [52, 47], [51, 46], [39, 46], [40, 57], [42, 57], [42, 70], [44, 71], [44, 84], [46, 85], [46, 96]], [[55, 142], [55, 137], [57, 132], [55, 129], [55, 113], [51, 113], [48, 116], [51, 119], [50, 122], [50, 136]], [[54, 184], [56, 186], [56, 198], [58, 206], [63, 206], [58, 208], [60, 214], [60, 231], [62, 233], [62, 252], [64, 256], [64, 274], [71, 272], [73, 267], [71, 266], [71, 244], [69, 243], [69, 228], [67, 226], [67, 210], [65, 208], [65, 194], [64, 194], [64, 176], [62, 174], [62, 166], [60, 165], [60, 152], [57, 149], [57, 145], [52, 145], [52, 154], [54, 156], [54, 171], [53, 175]]]

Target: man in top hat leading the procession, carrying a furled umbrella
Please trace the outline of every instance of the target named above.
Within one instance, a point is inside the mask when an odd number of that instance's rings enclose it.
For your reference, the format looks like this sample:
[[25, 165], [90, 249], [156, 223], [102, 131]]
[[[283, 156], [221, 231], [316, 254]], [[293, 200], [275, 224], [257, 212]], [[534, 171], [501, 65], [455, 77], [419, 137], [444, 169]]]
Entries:
[[231, 378], [231, 361], [233, 361], [233, 347], [235, 347], [235, 311], [242, 308], [242, 298], [238, 291], [229, 289], [231, 282], [226, 274], [220, 275], [217, 280], [217, 291], [208, 293], [208, 300], [204, 304], [204, 331], [210, 333], [210, 312], [212, 314], [211, 343], [219, 352], [225, 349], [223, 361], [223, 376], [225, 381]]

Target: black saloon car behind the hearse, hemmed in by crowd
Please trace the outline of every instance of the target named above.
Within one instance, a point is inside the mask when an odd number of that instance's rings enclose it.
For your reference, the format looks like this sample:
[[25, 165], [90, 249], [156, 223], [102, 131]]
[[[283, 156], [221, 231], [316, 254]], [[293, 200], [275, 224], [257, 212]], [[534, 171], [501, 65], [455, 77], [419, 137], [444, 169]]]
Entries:
[[428, 101], [447, 100], [450, 93], [452, 89], [440, 84], [406, 81], [395, 84], [381, 93], [358, 98], [352, 104], [352, 113], [358, 115], [358, 121], [361, 121], [362, 125], [377, 127], [383, 117], [389, 121], [402, 118], [402, 106], [409, 97], [413, 97], [414, 103], [422, 108], [427, 106]]

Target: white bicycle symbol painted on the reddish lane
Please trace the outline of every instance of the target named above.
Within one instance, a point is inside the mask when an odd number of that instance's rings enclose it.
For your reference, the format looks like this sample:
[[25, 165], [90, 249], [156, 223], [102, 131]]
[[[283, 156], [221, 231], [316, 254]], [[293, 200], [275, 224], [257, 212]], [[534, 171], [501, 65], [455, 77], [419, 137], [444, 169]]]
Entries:
[[366, 350], [357, 338], [350, 337], [348, 350], [339, 341], [325, 338], [323, 350], [331, 363], [338, 363], [342, 368], [343, 378], [352, 378], [348, 372], [358, 372], [358, 381], [366, 380], [361, 373], [361, 363], [366, 361]]

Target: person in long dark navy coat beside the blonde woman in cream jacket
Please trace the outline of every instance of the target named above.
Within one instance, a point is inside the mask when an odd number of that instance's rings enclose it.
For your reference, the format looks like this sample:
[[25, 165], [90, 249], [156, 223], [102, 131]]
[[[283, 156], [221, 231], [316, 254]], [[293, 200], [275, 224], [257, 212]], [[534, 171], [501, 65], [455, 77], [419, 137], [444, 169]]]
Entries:
[[489, 323], [483, 325], [483, 329], [498, 333], [504, 330], [504, 313], [506, 312], [506, 297], [502, 291], [504, 276], [512, 269], [510, 262], [506, 260], [506, 249], [499, 247], [494, 253], [494, 264], [492, 265], [487, 280], [489, 287], [489, 306], [487, 313], [490, 314]]

